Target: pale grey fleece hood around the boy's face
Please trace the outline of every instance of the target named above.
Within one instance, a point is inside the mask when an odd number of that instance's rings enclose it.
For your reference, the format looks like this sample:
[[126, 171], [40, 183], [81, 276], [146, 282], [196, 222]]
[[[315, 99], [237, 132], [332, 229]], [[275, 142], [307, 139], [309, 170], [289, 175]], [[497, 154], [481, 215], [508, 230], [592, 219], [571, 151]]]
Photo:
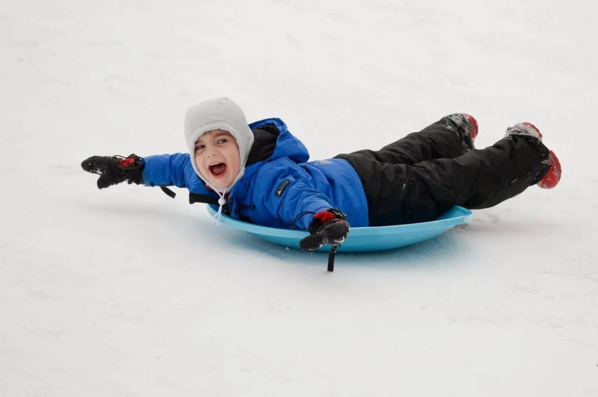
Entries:
[[[213, 186], [197, 169], [195, 164], [195, 142], [207, 131], [224, 130], [228, 131], [239, 146], [239, 174], [226, 189], [218, 189]], [[233, 100], [222, 97], [200, 102], [187, 110], [185, 115], [185, 139], [191, 155], [191, 165], [199, 176], [209, 187], [216, 192], [230, 192], [234, 184], [245, 173], [245, 163], [249, 156], [252, 144], [254, 144], [254, 133], [247, 124], [243, 110]]]

